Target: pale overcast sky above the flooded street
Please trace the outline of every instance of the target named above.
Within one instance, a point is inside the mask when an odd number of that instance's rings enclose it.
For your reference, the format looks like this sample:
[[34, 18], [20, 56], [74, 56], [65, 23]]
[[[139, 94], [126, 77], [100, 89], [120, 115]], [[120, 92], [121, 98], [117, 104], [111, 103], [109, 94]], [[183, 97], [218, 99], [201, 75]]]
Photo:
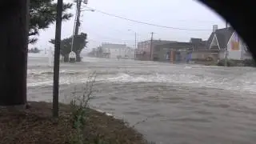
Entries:
[[[194, 0], [89, 0], [87, 6], [96, 10], [83, 11], [81, 17], [80, 32], [88, 34], [89, 49], [102, 42], [126, 43], [134, 47], [134, 32], [138, 34], [138, 41], [149, 40], [150, 32], [154, 32], [154, 39], [162, 40], [188, 42], [190, 38], [207, 39], [213, 25], [218, 25], [218, 28], [226, 26], [218, 14]], [[190, 30], [148, 26], [111, 17], [97, 10], [140, 22]], [[74, 14], [75, 10], [70, 12]], [[74, 18], [62, 22], [62, 38], [70, 37], [73, 27]], [[52, 46], [48, 41], [54, 38], [54, 32], [55, 25], [42, 30], [35, 46], [48, 49]]]

